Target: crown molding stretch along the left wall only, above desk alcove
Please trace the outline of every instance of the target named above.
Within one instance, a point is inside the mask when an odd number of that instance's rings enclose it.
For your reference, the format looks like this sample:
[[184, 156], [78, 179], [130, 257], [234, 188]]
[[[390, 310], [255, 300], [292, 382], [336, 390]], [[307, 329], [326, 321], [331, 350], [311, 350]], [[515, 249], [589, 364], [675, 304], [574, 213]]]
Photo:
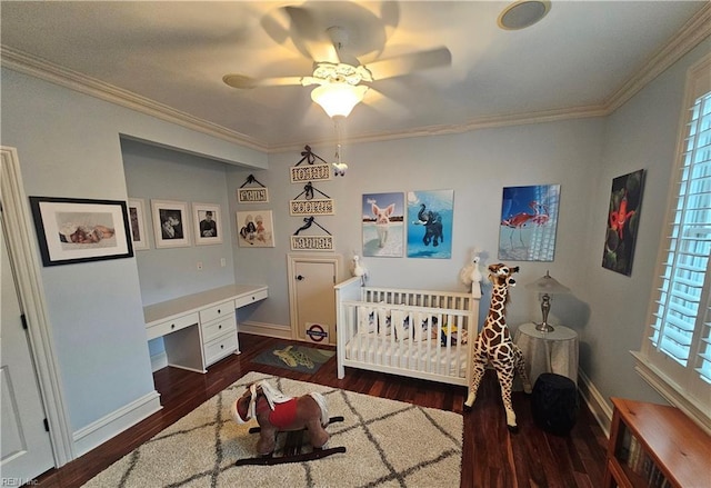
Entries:
[[268, 151], [266, 145], [258, 142], [249, 136], [2, 44], [0, 44], [0, 64], [13, 71], [136, 110], [137, 112], [156, 117], [157, 119], [172, 122], [187, 129], [207, 133], [258, 151]]

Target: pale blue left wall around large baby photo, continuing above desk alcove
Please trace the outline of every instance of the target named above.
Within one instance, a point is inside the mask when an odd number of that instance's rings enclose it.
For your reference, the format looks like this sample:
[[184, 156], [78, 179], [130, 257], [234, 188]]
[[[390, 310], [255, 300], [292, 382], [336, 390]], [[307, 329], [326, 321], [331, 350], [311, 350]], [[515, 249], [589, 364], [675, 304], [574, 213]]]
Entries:
[[[1, 140], [18, 150], [28, 196], [126, 201], [120, 135], [267, 167], [258, 151], [6, 68], [1, 76]], [[153, 391], [137, 258], [42, 268], [41, 282], [74, 431]]]

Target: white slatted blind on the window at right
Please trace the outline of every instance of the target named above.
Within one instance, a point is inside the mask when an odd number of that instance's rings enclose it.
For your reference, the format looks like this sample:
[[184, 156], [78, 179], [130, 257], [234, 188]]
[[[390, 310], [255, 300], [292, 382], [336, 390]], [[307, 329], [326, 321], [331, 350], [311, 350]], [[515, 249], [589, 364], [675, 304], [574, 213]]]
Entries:
[[687, 133], [649, 340], [711, 384], [711, 92], [695, 100]]

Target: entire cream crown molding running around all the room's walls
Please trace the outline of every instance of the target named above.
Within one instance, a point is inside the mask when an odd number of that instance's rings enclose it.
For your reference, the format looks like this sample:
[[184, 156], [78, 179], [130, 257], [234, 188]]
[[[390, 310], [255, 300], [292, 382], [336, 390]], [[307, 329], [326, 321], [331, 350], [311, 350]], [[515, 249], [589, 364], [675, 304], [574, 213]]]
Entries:
[[[463, 133], [478, 129], [543, 123], [591, 117], [605, 117], [629, 101], [637, 92], [679, 61], [691, 49], [711, 34], [711, 3], [702, 7], [663, 48], [652, 54], [642, 67], [628, 78], [612, 96], [598, 106], [570, 107], [528, 113], [498, 114], [472, 119], [459, 125], [420, 127], [404, 131], [361, 135], [348, 139], [350, 143], [378, 142], [415, 137]], [[226, 127], [176, 110], [163, 103], [141, 97], [80, 72], [69, 70], [43, 59], [0, 44], [0, 63], [9, 69], [56, 83], [91, 97], [116, 103], [168, 122], [207, 133], [238, 146], [262, 152], [301, 150], [302, 142], [269, 146]], [[333, 143], [333, 138], [313, 141], [313, 145]]]

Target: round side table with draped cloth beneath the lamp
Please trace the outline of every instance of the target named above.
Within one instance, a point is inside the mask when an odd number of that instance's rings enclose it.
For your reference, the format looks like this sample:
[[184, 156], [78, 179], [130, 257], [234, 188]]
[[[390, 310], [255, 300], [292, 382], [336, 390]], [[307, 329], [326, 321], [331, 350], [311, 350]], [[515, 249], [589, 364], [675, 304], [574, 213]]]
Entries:
[[518, 328], [513, 341], [525, 357], [531, 386], [542, 372], [565, 376], [578, 385], [578, 332], [563, 326], [541, 332], [529, 322]]

